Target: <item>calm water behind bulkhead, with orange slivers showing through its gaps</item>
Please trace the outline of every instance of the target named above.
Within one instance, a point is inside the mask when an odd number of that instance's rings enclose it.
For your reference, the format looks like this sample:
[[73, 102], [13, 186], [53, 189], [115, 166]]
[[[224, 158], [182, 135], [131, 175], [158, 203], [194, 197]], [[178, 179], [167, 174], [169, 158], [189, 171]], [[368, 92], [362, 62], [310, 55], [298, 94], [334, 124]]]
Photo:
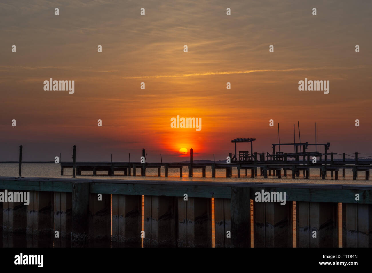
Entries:
[[[72, 178], [72, 169], [65, 169], [65, 174], [60, 175], [61, 168], [60, 164], [36, 164], [36, 163], [24, 163], [22, 164], [22, 176], [23, 177], [46, 177], [46, 178]], [[131, 172], [133, 173], [133, 172]], [[310, 179], [305, 179], [300, 172], [300, 176], [296, 179], [292, 179], [292, 172], [287, 171], [287, 177], [283, 176], [278, 179], [274, 176], [269, 176], [264, 178], [260, 176], [258, 169], [257, 177], [250, 177], [250, 170], [248, 170], [247, 176], [245, 176], [245, 171], [241, 170], [241, 178], [237, 178], [237, 169], [232, 168], [232, 177], [226, 178], [225, 169], [216, 169], [216, 178], [211, 177], [212, 169], [207, 167], [206, 176], [202, 177], [201, 169], [193, 170], [193, 177], [187, 177], [188, 169], [183, 168], [183, 177], [179, 177], [179, 169], [169, 169], [168, 177], [165, 176], [165, 169], [161, 169], [161, 177], [158, 177], [157, 169], [147, 169], [146, 176], [141, 176], [140, 172], [137, 170], [137, 176], [124, 176], [124, 172], [115, 172], [115, 176], [108, 176], [107, 172], [97, 172], [97, 176], [92, 176], [92, 172], [81, 172], [81, 176], [76, 178], [81, 179], [138, 179], [138, 180], [169, 180], [169, 181], [220, 181], [220, 182], [280, 182], [280, 183], [327, 183], [327, 184], [371, 184], [372, 181], [365, 180], [365, 174], [363, 172], [359, 173], [357, 181], [353, 181], [353, 173], [351, 169], [345, 170], [345, 177], [342, 177], [342, 171], [339, 171], [339, 180], [335, 180], [334, 177], [331, 178], [330, 172], [327, 173], [327, 178], [322, 180], [319, 176], [319, 169], [310, 170]], [[0, 176], [18, 176], [18, 164], [0, 164]], [[294, 202], [295, 203], [295, 202]], [[339, 247], [342, 247], [342, 237], [341, 237], [341, 225], [342, 225], [342, 206], [339, 203]], [[143, 203], [142, 203], [142, 224], [143, 224]], [[142, 228], [143, 229], [143, 228]], [[214, 246], [214, 198], [212, 198], [212, 240]], [[296, 205], [293, 207], [293, 234], [294, 234], [294, 247], [296, 247]], [[251, 246], [253, 247], [253, 200], [251, 200]], [[38, 247], [38, 246], [49, 246], [49, 247], [70, 247], [71, 242], [66, 240], [50, 240], [50, 238], [35, 238], [29, 239], [26, 235], [9, 235], [8, 237], [3, 237], [4, 247]], [[114, 242], [94, 242], [90, 244], [91, 247], [125, 247], [128, 245], [114, 243]]]

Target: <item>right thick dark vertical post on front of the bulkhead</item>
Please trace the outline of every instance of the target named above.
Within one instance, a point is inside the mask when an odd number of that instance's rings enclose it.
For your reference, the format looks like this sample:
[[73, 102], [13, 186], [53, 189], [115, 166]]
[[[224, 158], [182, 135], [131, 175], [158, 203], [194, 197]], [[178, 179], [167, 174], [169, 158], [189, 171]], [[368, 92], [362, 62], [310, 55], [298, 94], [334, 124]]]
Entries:
[[251, 246], [250, 188], [231, 187], [231, 246]]

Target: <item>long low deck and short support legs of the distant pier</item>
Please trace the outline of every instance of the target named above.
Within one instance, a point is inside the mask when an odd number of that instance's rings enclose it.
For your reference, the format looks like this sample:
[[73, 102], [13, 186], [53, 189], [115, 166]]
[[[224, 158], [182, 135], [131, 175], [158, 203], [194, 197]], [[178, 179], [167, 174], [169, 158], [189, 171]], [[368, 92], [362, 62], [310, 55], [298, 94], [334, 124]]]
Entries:
[[[331, 162], [323, 161], [317, 164], [308, 163], [308, 161], [288, 161], [288, 162], [273, 162], [269, 163], [266, 161], [257, 161], [257, 163], [126, 163], [126, 162], [76, 162], [76, 175], [81, 175], [82, 171], [92, 172], [92, 175], [97, 175], [97, 171], [107, 172], [109, 176], [115, 175], [116, 171], [124, 171], [124, 176], [136, 176], [141, 173], [141, 176], [146, 176], [147, 169], [157, 169], [158, 176], [161, 176], [161, 169], [165, 170], [165, 177], [168, 177], [169, 169], [179, 169], [180, 177], [183, 176], [183, 168], [187, 167], [188, 176], [192, 177], [192, 169], [202, 169], [202, 177], [206, 177], [207, 167], [211, 168], [211, 174], [209, 177], [216, 177], [216, 169], [225, 169], [226, 177], [231, 176], [232, 168], [236, 168], [238, 178], [241, 177], [241, 171], [245, 170], [245, 176], [247, 176], [247, 170], [251, 170], [250, 177], [254, 178], [257, 176], [257, 169], [260, 169], [260, 175], [267, 178], [273, 175], [281, 178], [281, 176], [287, 176], [287, 170], [292, 171], [292, 178], [295, 179], [299, 176], [299, 172], [303, 171], [306, 179], [310, 178], [310, 170], [320, 170], [320, 176], [325, 179], [327, 172], [331, 173], [331, 177], [338, 179], [339, 170], [342, 170], [342, 176], [345, 176], [345, 169], [352, 169], [353, 179], [356, 180], [358, 172], [365, 172], [365, 179], [369, 179], [369, 172], [372, 168], [371, 162], [358, 162], [353, 163], [350, 161], [344, 162]], [[61, 162], [61, 175], [64, 174], [66, 168], [73, 168], [73, 162]]]

